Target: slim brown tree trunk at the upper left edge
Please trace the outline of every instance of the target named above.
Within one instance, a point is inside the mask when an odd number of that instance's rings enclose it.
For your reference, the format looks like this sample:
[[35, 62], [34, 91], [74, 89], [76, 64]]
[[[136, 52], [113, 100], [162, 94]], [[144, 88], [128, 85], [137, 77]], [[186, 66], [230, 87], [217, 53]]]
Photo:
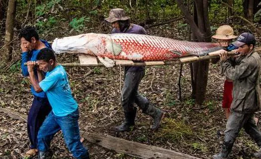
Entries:
[[11, 41], [13, 39], [13, 22], [15, 14], [16, 0], [8, 1], [7, 16], [5, 22], [5, 37], [4, 37], [4, 58], [6, 62], [12, 59]]

